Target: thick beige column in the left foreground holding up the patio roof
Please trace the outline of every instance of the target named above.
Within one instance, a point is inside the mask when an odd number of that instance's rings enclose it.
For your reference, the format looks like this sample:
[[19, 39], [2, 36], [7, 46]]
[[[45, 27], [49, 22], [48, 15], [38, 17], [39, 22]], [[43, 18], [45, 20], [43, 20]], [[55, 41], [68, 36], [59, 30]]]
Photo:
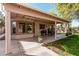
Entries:
[[5, 11], [5, 54], [11, 53], [11, 19], [10, 11]]

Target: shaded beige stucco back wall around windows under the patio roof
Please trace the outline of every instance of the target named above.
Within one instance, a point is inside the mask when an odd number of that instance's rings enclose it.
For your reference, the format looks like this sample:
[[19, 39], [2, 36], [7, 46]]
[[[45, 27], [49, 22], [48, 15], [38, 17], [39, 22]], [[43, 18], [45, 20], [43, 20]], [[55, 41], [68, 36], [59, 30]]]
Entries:
[[[28, 23], [28, 22], [25, 22], [25, 23]], [[52, 25], [52, 24], [50, 24], [50, 23], [46, 23], [46, 22], [41, 22], [41, 21], [36, 21], [36, 22], [34, 22], [35, 23], [35, 33], [32, 33], [32, 34], [27, 34], [27, 33], [25, 33], [25, 34], [23, 34], [23, 33], [19, 33], [19, 22], [17, 21], [16, 22], [16, 24], [17, 24], [17, 26], [16, 26], [16, 34], [13, 34], [12, 35], [12, 39], [22, 39], [22, 38], [29, 38], [29, 37], [33, 37], [33, 36], [39, 36], [40, 35], [40, 24], [45, 24], [46, 25], [46, 28], [47, 28], [47, 26], [50, 26], [50, 25]]]

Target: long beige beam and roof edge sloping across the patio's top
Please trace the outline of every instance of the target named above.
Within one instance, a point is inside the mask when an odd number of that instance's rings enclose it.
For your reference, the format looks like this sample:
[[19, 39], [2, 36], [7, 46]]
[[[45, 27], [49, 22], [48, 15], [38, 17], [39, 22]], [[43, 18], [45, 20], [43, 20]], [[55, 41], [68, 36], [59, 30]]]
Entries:
[[[68, 22], [64, 19], [52, 16], [50, 14], [26, 7], [17, 3], [4, 3], [5, 10], [10, 11], [11, 13], [17, 13], [23, 15], [23, 17], [27, 16], [32, 19], [36, 18], [37, 20], [45, 20], [45, 21], [56, 21], [59, 23]], [[15, 15], [14, 15], [15, 16]]]

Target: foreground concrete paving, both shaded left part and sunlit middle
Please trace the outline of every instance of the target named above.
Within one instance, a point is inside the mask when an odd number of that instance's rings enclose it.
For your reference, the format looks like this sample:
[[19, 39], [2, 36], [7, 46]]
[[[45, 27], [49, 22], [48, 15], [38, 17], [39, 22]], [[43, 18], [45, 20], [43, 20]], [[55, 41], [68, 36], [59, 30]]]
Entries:
[[[0, 40], [0, 56], [5, 55], [4, 48], [4, 40]], [[27, 40], [12, 40], [12, 51], [8, 56], [58, 56], [41, 44]]]

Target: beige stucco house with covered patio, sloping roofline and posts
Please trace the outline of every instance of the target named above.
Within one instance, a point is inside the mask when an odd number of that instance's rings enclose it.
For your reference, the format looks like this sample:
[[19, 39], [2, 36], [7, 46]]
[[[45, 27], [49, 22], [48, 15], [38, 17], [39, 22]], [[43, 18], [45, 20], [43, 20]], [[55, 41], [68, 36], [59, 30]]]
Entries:
[[56, 24], [68, 21], [17, 3], [4, 3], [5, 10], [5, 54], [11, 53], [11, 39], [22, 39], [51, 34], [56, 39]]

